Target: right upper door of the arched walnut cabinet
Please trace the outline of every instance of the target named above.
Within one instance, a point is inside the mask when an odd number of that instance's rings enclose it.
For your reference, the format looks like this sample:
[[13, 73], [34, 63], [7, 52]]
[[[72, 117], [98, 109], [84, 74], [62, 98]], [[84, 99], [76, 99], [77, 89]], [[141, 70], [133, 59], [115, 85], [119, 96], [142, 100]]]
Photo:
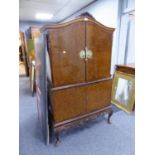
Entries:
[[112, 31], [93, 22], [86, 22], [86, 79], [93, 81], [110, 76]]

